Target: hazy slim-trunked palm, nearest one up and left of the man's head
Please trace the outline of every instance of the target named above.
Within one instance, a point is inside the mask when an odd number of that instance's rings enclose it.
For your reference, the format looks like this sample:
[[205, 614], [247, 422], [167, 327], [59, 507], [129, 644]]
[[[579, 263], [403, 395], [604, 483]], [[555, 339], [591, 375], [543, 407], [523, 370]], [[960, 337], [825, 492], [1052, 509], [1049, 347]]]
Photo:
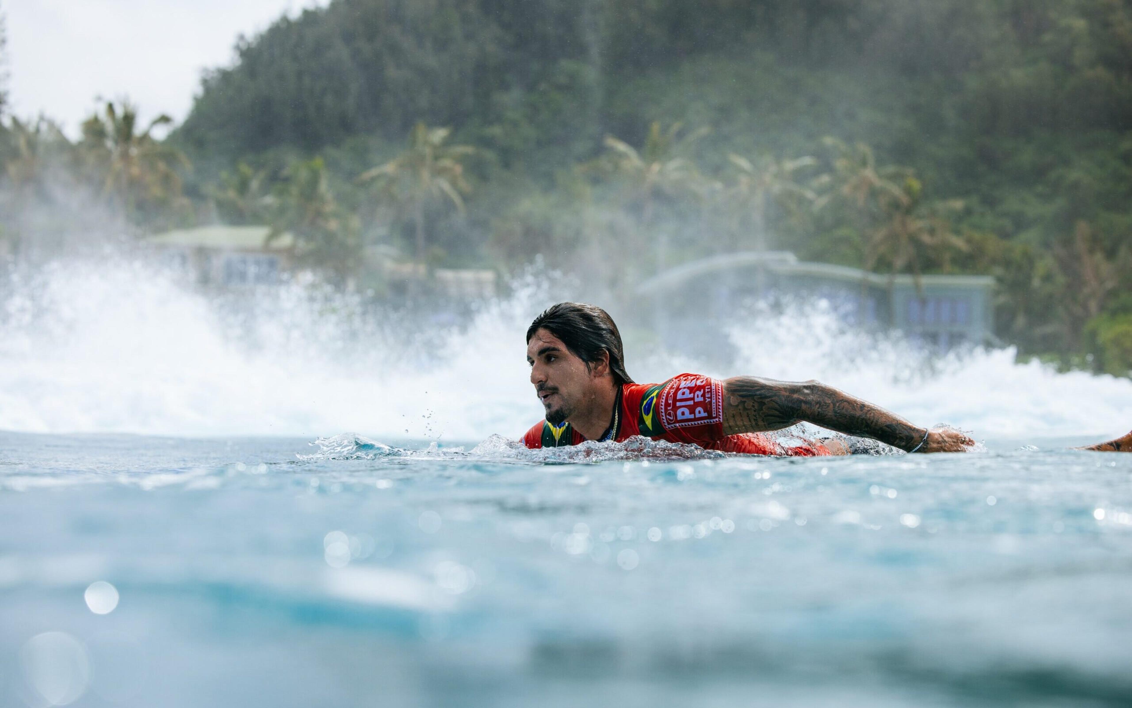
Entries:
[[471, 191], [461, 160], [477, 150], [470, 145], [445, 145], [451, 133], [451, 128], [429, 128], [418, 122], [403, 153], [358, 176], [358, 181], [376, 185], [384, 197], [409, 212], [417, 237], [417, 259], [421, 263], [426, 257], [427, 208], [435, 203], [451, 203], [463, 213], [461, 195]]

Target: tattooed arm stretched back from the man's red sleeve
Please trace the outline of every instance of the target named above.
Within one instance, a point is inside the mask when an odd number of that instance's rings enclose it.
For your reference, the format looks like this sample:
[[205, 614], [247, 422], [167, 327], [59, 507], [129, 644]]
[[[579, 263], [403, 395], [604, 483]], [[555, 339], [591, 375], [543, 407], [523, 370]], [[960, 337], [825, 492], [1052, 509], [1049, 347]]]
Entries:
[[872, 437], [918, 452], [963, 452], [975, 441], [955, 430], [927, 430], [872, 403], [816, 381], [786, 382], [736, 376], [723, 382], [723, 434], [779, 430], [796, 423]]

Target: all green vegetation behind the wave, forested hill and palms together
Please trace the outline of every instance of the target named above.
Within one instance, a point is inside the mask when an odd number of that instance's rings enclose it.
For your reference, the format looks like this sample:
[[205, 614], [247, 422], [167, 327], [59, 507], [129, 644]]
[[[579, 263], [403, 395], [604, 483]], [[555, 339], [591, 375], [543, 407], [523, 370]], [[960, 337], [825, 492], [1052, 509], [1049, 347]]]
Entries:
[[380, 247], [612, 292], [784, 248], [995, 275], [1022, 356], [1132, 369], [1132, 0], [334, 0], [165, 122], [3, 114], [0, 238], [85, 194], [139, 236], [271, 223], [342, 283]]

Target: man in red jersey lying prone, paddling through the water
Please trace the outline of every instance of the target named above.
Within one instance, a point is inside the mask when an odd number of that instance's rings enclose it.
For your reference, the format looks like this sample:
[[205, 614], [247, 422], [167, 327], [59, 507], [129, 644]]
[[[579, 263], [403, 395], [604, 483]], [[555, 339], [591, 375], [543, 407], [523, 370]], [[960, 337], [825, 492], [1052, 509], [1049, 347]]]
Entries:
[[[526, 360], [547, 411], [546, 420], [523, 436], [528, 447], [643, 435], [723, 452], [849, 454], [835, 438], [783, 445], [764, 435], [803, 421], [906, 452], [964, 452], [975, 444], [963, 433], [916, 427], [816, 381], [680, 374], [660, 384], [634, 383], [617, 325], [593, 305], [559, 302], [535, 317], [526, 331]], [[1132, 452], [1132, 433], [1087, 450]]]

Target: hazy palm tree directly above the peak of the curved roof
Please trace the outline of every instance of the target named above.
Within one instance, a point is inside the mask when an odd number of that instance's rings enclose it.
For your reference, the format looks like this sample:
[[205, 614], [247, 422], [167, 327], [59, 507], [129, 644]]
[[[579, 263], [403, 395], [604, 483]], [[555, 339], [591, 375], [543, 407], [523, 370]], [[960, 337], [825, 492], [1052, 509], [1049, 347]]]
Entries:
[[[735, 184], [724, 193], [728, 202], [736, 204], [740, 213], [751, 216], [755, 234], [755, 248], [766, 248], [766, 211], [771, 204], [796, 208], [799, 202], [814, 202], [812, 190], [795, 181], [794, 174], [803, 168], [817, 164], [813, 157], [775, 160], [764, 156], [756, 162], [729, 154], [728, 160], [739, 173]], [[741, 217], [741, 216], [740, 216]]]

